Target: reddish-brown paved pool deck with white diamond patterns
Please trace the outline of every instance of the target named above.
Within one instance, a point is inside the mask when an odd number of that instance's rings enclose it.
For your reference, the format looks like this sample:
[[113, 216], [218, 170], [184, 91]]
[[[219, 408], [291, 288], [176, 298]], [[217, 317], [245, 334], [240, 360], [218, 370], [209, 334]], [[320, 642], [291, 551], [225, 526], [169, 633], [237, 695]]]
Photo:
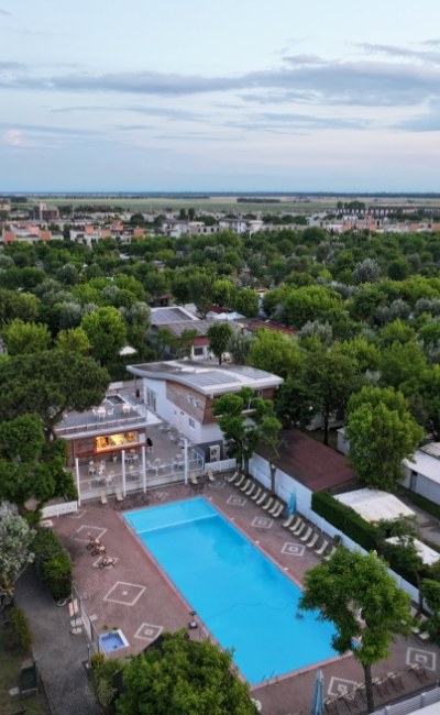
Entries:
[[[199, 494], [197, 494], [198, 496]], [[273, 519], [255, 503], [245, 497], [222, 477], [205, 487], [202, 495], [245, 534], [266, 556], [279, 565], [296, 584], [301, 585], [302, 574], [319, 562], [314, 550], [283, 528], [284, 518]], [[196, 496], [194, 488], [183, 484], [147, 492], [150, 506]], [[124, 510], [142, 508], [144, 495], [125, 499]], [[118, 505], [120, 506], [120, 505]], [[138, 653], [148, 646], [162, 630], [186, 628], [190, 620], [190, 604], [185, 603], [154, 560], [146, 553], [134, 532], [125, 525], [114, 499], [108, 506], [86, 504], [77, 514], [54, 519], [54, 529], [64, 540], [74, 560], [74, 575], [78, 594], [98, 632], [120, 628], [130, 647], [118, 650], [117, 656]], [[87, 532], [100, 537], [107, 553], [117, 559], [113, 566], [99, 569], [98, 556], [91, 556], [86, 546]], [[321, 539], [318, 541], [320, 543]], [[188, 569], [197, 561], [197, 553], [188, 553]], [[228, 584], [226, 584], [228, 587]], [[197, 618], [197, 616], [196, 616]], [[193, 638], [205, 638], [204, 625], [189, 631]], [[300, 648], [300, 644], [293, 644]], [[262, 642], [264, 648], [264, 642]], [[388, 693], [375, 692], [376, 707], [384, 706], [410, 694], [427, 690], [437, 683], [440, 649], [416, 636], [398, 636], [387, 661], [373, 668], [373, 676], [383, 678], [389, 671], [402, 674], [404, 690]], [[428, 679], [424, 682], [408, 671], [408, 666], [425, 666]], [[338, 696], [363, 682], [363, 670], [352, 656], [334, 658], [302, 671], [280, 676], [267, 673], [267, 679], [252, 688], [252, 696], [261, 701], [264, 715], [288, 715], [310, 712], [311, 693], [317, 668], [324, 675], [324, 696]], [[356, 698], [354, 712], [366, 712]], [[339, 713], [350, 712], [345, 702], [338, 702]]]

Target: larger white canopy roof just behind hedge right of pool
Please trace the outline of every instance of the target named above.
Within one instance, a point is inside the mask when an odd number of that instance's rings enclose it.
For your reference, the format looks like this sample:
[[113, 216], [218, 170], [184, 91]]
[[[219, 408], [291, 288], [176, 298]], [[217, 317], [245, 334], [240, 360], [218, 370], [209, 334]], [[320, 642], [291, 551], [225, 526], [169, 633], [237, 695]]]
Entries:
[[356, 490], [336, 494], [334, 498], [358, 512], [365, 521], [392, 521], [402, 516], [416, 516], [415, 512], [388, 492], [380, 490]]

